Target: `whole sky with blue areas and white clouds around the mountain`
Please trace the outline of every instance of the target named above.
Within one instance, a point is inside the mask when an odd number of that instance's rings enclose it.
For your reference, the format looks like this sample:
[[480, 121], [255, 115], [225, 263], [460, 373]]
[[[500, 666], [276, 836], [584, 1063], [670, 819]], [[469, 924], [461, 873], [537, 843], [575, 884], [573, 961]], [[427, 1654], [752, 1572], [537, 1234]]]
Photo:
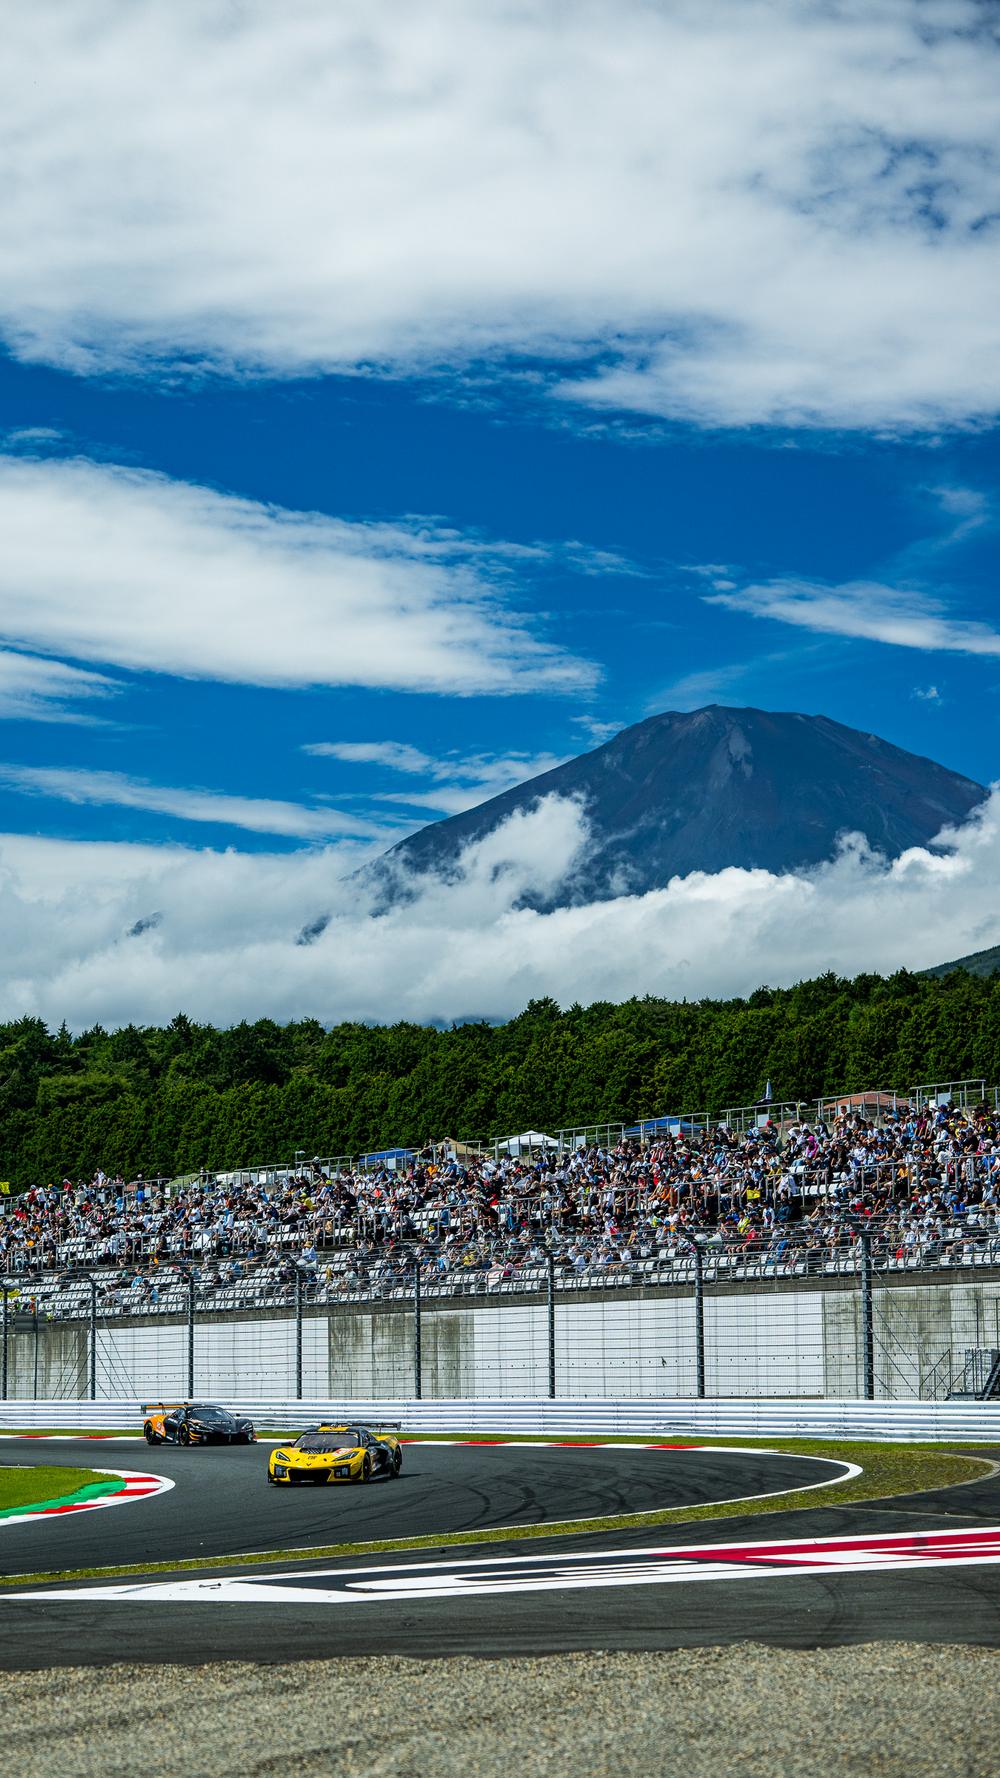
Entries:
[[[25, 14], [7, 1005], [288, 1015], [283, 948], [363, 857], [660, 709], [822, 711], [1000, 777], [998, 75], [980, 0]], [[518, 871], [573, 823], [511, 836], [507, 901], [427, 916], [409, 1012], [756, 985], [657, 951], [651, 905], [593, 916], [617, 976], [577, 981], [555, 926], [532, 973]], [[915, 932], [993, 937], [977, 857]], [[895, 965], [899, 907], [865, 907], [785, 973]], [[516, 967], [456, 971], [457, 932]], [[331, 933], [308, 1010], [390, 1015], [383, 928]]]

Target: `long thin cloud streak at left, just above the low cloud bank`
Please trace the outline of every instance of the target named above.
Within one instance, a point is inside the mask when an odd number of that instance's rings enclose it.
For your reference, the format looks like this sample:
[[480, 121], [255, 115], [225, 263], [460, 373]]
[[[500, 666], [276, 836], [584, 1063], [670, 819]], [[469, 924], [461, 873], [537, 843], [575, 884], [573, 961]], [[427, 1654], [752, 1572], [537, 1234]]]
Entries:
[[347, 836], [388, 843], [399, 837], [399, 834], [386, 834], [372, 821], [342, 814], [340, 809], [310, 809], [297, 802], [230, 797], [210, 789], [176, 789], [128, 777], [125, 772], [0, 765], [0, 784], [28, 797], [53, 797], [59, 802], [77, 805], [146, 809], [151, 814], [169, 814], [181, 821], [212, 821], [219, 827], [242, 827], [251, 834], [283, 834], [290, 839]]

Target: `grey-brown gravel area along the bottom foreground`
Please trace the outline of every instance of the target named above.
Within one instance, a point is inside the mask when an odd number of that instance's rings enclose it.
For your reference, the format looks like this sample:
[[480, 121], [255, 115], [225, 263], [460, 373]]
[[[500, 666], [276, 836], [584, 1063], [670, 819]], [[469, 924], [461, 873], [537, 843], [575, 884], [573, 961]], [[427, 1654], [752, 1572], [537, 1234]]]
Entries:
[[995, 1778], [1000, 1652], [872, 1643], [0, 1677], [32, 1778]]

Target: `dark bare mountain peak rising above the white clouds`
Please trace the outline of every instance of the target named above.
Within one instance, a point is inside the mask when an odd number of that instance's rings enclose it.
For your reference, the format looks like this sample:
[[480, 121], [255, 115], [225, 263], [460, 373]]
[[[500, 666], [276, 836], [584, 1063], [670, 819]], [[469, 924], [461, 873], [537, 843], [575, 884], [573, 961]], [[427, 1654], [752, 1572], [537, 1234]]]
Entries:
[[895, 857], [964, 821], [986, 797], [982, 784], [829, 717], [710, 704], [637, 722], [593, 754], [411, 834], [388, 861], [447, 871], [463, 846], [550, 793], [580, 797], [593, 832], [560, 900], [642, 893], [730, 864], [820, 864], [843, 832]]

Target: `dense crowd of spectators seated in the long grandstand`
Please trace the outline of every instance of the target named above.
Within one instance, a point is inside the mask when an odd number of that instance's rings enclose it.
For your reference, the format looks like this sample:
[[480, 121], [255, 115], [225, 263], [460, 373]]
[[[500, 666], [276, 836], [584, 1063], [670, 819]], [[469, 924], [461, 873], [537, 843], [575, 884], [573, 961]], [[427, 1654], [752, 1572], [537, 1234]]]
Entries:
[[[1000, 1262], [1000, 1113], [986, 1104], [843, 1106], [835, 1117], [653, 1131], [521, 1156], [415, 1156], [390, 1168], [93, 1181], [5, 1200], [0, 1271], [21, 1294], [96, 1278], [109, 1307], [413, 1289], [594, 1285], [703, 1255], [765, 1273], [856, 1259]], [[43, 1287], [44, 1280], [44, 1287]], [[173, 1287], [173, 1289], [167, 1289]]]

